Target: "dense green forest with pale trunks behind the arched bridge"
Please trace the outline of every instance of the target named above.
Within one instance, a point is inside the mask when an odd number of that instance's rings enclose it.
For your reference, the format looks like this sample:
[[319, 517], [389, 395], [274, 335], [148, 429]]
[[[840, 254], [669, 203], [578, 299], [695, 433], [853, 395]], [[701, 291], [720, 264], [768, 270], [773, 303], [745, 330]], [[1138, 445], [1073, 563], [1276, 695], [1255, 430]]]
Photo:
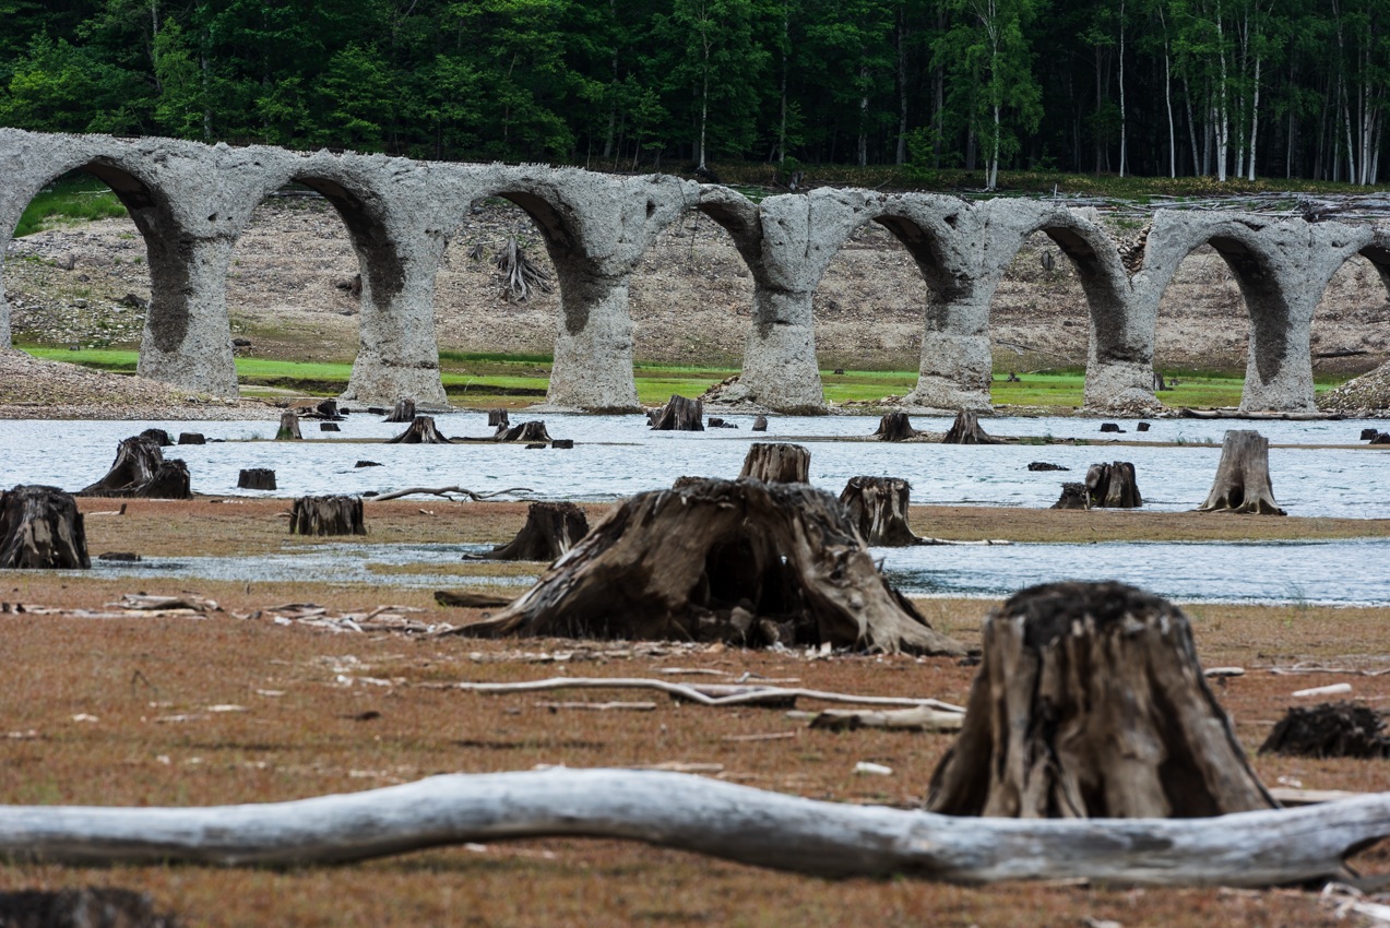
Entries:
[[0, 125], [1376, 183], [1390, 0], [0, 0]]

